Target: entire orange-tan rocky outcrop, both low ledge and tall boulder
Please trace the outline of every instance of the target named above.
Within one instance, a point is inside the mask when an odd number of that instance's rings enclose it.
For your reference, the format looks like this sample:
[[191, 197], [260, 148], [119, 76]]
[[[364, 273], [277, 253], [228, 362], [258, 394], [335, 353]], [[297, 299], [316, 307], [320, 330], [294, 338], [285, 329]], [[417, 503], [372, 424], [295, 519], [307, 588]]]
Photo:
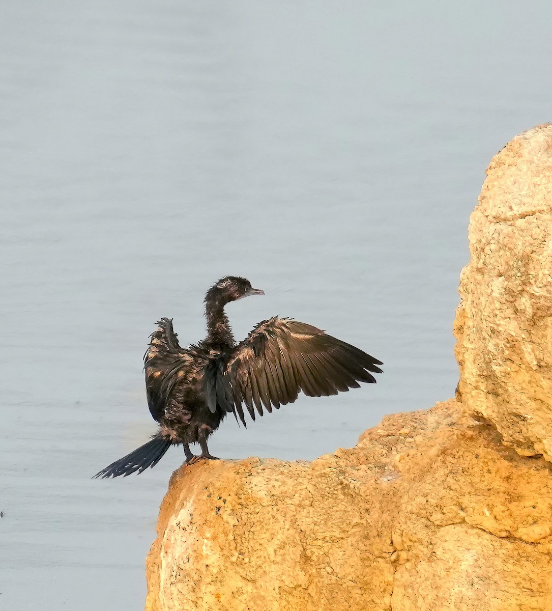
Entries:
[[488, 169], [455, 326], [459, 400], [312, 463], [177, 470], [147, 611], [552, 609], [549, 161], [540, 126]]

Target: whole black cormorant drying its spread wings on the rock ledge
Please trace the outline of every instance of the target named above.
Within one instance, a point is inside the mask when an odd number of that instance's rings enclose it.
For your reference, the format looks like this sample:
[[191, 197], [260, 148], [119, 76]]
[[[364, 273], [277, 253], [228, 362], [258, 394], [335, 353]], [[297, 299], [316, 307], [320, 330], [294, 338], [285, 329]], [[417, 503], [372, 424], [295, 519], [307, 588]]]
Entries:
[[[141, 473], [171, 445], [184, 445], [186, 464], [215, 459], [207, 437], [225, 415], [234, 414], [246, 426], [244, 406], [255, 420], [255, 409], [261, 416], [264, 409], [272, 412], [293, 403], [301, 390], [309, 397], [327, 397], [359, 388], [358, 382], [376, 382], [372, 373], [382, 373], [379, 360], [292, 318], [264, 320], [236, 344], [224, 307], [249, 295], [264, 292], [236, 276], [209, 288], [207, 337], [186, 349], [178, 343], [172, 320], [161, 318], [144, 355], [148, 406], [159, 431], [94, 477]], [[193, 443], [200, 445], [200, 456], [192, 454]]]

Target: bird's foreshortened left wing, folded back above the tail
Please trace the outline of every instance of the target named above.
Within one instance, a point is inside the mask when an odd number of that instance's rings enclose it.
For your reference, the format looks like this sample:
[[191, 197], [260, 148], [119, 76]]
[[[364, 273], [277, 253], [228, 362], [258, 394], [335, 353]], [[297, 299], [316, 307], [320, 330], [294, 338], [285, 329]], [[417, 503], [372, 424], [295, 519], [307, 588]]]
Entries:
[[165, 406], [175, 385], [184, 376], [191, 356], [180, 347], [173, 331], [172, 318], [161, 318], [151, 334], [150, 345], [143, 356], [148, 407], [155, 420], [165, 413]]

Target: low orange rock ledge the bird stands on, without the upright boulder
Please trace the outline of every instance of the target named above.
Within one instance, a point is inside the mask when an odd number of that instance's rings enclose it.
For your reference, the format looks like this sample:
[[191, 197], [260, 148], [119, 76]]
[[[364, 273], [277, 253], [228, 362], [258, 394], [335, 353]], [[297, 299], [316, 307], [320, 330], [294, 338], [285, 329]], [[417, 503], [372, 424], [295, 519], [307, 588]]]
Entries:
[[551, 484], [454, 400], [312, 463], [182, 467], [146, 609], [550, 610]]

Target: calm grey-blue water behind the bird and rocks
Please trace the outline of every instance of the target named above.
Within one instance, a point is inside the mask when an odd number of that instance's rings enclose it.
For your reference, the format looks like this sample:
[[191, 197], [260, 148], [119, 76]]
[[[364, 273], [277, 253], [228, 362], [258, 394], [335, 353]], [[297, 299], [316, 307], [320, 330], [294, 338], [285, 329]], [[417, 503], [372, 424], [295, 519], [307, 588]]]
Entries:
[[[541, 7], [539, 9], [539, 7]], [[0, 606], [141, 609], [183, 459], [91, 480], [154, 431], [160, 316], [203, 336], [225, 274], [385, 362], [219, 456], [314, 458], [454, 393], [467, 222], [492, 155], [551, 119], [550, 4], [2, 3]]]

